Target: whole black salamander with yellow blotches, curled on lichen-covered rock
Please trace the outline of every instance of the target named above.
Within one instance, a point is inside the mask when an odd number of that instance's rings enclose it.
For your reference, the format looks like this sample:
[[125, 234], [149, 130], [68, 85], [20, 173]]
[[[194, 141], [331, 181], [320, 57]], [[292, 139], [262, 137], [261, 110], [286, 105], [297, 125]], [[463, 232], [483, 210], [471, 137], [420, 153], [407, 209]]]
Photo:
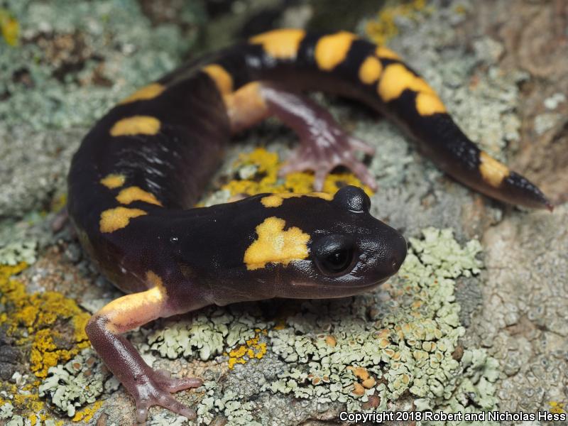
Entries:
[[403, 236], [347, 186], [335, 195], [261, 194], [195, 208], [234, 134], [268, 116], [300, 146], [281, 173], [337, 165], [375, 188], [319, 90], [367, 104], [399, 124], [439, 168], [503, 202], [549, 208], [523, 176], [481, 151], [435, 90], [393, 51], [345, 31], [278, 29], [178, 68], [119, 102], [84, 137], [68, 176], [68, 212], [85, 251], [126, 295], [87, 324], [94, 349], [136, 402], [195, 411], [172, 393], [200, 386], [148, 366], [124, 332], [197, 310], [271, 297], [344, 297], [380, 285], [406, 255]]

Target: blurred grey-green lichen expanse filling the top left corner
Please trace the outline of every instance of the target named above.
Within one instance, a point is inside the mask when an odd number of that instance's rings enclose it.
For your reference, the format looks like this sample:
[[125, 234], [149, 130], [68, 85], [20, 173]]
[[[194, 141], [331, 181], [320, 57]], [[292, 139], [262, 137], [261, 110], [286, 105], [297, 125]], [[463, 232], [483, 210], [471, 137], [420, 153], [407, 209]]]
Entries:
[[[92, 123], [120, 97], [173, 69], [197, 35], [182, 37], [173, 25], [152, 28], [133, 0], [10, 0], [6, 9], [22, 37], [0, 58], [10, 76], [0, 80], [0, 93], [10, 94], [0, 117], [36, 129]], [[188, 27], [198, 15], [186, 13]]]

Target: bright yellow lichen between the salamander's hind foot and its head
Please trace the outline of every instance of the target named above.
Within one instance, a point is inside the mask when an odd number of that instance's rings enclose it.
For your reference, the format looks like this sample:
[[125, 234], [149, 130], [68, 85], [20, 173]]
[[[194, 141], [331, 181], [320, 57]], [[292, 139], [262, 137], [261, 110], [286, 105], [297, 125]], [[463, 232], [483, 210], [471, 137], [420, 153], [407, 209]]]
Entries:
[[[283, 179], [278, 179], [278, 169], [282, 163], [278, 154], [256, 148], [251, 153], [242, 153], [234, 164], [234, 168], [240, 169], [246, 166], [256, 167], [256, 173], [250, 178], [231, 180], [223, 186], [231, 196], [256, 195], [263, 192], [295, 192], [297, 194], [309, 194], [314, 192], [314, 175], [309, 172], [288, 173]], [[363, 185], [352, 173], [338, 173], [327, 175], [324, 182], [323, 192], [334, 195], [344, 185], [356, 185], [372, 195], [371, 188]]]

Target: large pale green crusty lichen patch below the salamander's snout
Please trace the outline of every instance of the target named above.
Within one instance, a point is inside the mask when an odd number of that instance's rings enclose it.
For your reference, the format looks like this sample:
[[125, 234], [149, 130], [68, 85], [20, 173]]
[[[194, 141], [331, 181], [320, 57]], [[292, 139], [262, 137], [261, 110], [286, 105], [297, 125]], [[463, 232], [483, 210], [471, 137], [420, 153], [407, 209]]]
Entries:
[[[322, 402], [339, 400], [349, 410], [361, 410], [374, 391], [381, 398], [378, 410], [405, 391], [432, 400], [450, 398], [451, 379], [459, 373], [452, 353], [464, 333], [453, 279], [479, 272], [481, 246], [469, 241], [461, 248], [449, 229], [425, 229], [423, 236], [410, 239], [398, 278], [380, 292], [359, 296], [356, 304], [305, 302], [307, 313], [288, 318], [288, 328], [271, 331], [269, 347], [290, 367], [266, 388]], [[374, 322], [356, 306], [370, 307]], [[346, 315], [353, 317], [346, 320]], [[373, 380], [365, 386], [348, 367], [364, 368]], [[378, 381], [383, 383], [374, 386]]]

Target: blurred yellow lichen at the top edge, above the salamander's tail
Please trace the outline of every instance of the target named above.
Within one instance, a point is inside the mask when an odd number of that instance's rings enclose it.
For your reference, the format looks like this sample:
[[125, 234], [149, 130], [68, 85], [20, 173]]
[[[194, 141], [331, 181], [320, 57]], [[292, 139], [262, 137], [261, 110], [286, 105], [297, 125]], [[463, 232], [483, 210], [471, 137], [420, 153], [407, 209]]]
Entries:
[[367, 23], [365, 32], [371, 40], [378, 45], [382, 45], [398, 34], [398, 27], [395, 23], [397, 16], [413, 18], [416, 13], [423, 11], [425, 8], [426, 0], [413, 0], [403, 4], [400, 4], [398, 1], [389, 1], [378, 12], [377, 18]]

